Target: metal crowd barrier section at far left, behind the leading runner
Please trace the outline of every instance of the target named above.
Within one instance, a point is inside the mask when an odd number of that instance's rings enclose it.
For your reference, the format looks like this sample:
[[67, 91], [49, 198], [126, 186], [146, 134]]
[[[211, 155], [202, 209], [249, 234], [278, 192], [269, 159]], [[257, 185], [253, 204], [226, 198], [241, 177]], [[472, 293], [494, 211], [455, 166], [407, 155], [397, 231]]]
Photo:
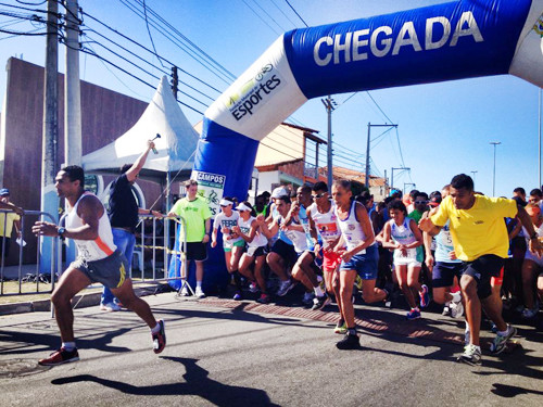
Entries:
[[[11, 211], [5, 211], [5, 209], [0, 209], [0, 219], [3, 220], [4, 228], [2, 230], [2, 234], [7, 234], [7, 226], [8, 221], [13, 221], [10, 219], [11, 216], [10, 214], [13, 214]], [[39, 211], [25, 211], [24, 214], [21, 216], [21, 231], [22, 231], [22, 238], [26, 239], [36, 239], [36, 268], [35, 268], [35, 274], [26, 274], [23, 276], [23, 255], [25, 247], [28, 246], [30, 247], [31, 244], [24, 245], [23, 242], [21, 244], [17, 244], [18, 246], [18, 262], [16, 266], [5, 266], [5, 249], [7, 249], [7, 240], [2, 239], [2, 256], [0, 259], [0, 296], [9, 296], [9, 295], [30, 295], [30, 294], [47, 294], [51, 293], [52, 290], [54, 289], [54, 282], [55, 282], [55, 277], [60, 276], [61, 274], [61, 267], [62, 267], [62, 252], [61, 252], [61, 245], [60, 245], [60, 239], [59, 238], [50, 238], [50, 237], [35, 237], [35, 234], [31, 232], [30, 228], [34, 225], [34, 221], [29, 222], [28, 218], [29, 217], [37, 217], [40, 220], [49, 220], [54, 222], [55, 219], [51, 214], [45, 213], [45, 212], [39, 212]], [[28, 231], [26, 230], [26, 225], [29, 224]], [[25, 233], [26, 232], [26, 233]], [[2, 238], [11, 238], [11, 236], [2, 236]], [[50, 244], [51, 244], [51, 267], [49, 270], [40, 270], [40, 258], [41, 258], [41, 240], [42, 239], [49, 239]], [[11, 243], [11, 242], [10, 242]], [[27, 267], [25, 267], [27, 268]], [[33, 267], [34, 268], [34, 267]], [[16, 269], [16, 272], [14, 271]], [[12, 292], [12, 293], [7, 293], [4, 292], [4, 280], [8, 279], [17, 279], [18, 281], [18, 291], [17, 292]], [[23, 292], [23, 283], [25, 282], [25, 279], [27, 280], [35, 280], [36, 283], [36, 289], [33, 291], [25, 291]], [[48, 290], [40, 290], [40, 283], [45, 283], [45, 281], [41, 281], [45, 279], [46, 281], [49, 280], [51, 283], [51, 288]]]

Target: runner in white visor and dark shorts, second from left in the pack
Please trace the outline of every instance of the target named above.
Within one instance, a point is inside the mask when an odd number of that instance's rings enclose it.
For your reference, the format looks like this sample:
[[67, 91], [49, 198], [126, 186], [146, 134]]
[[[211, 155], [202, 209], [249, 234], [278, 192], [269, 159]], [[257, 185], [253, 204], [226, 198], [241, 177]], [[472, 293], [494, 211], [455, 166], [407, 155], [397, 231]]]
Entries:
[[[238, 226], [232, 228], [247, 242], [247, 252], [241, 255], [239, 272], [251, 281], [251, 292], [261, 290], [261, 296], [256, 301], [268, 304], [270, 297], [267, 293], [266, 279], [264, 278], [264, 264], [266, 263], [266, 245], [268, 240], [261, 231], [261, 221], [256, 220], [254, 209], [247, 201], [240, 203], [236, 211], [239, 212]], [[261, 214], [262, 215], [262, 214]], [[264, 215], [261, 216], [263, 219]], [[254, 270], [251, 265], [254, 263]]]

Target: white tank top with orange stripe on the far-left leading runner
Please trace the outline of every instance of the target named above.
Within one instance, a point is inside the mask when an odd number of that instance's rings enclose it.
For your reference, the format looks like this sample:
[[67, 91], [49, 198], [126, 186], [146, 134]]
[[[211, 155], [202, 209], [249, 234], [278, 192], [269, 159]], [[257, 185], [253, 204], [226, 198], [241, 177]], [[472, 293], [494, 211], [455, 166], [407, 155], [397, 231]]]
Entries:
[[[68, 212], [66, 217], [66, 229], [80, 228], [84, 224], [81, 218], [77, 215], [77, 206], [85, 196], [94, 196], [90, 192], [84, 192], [77, 200], [72, 211]], [[98, 199], [98, 198], [97, 198]], [[113, 233], [111, 231], [110, 219], [108, 212], [103, 208], [102, 217], [98, 224], [98, 238], [94, 240], [76, 240], [73, 239], [77, 245], [79, 257], [87, 262], [94, 262], [105, 258], [115, 252], [117, 246], [113, 243]]]

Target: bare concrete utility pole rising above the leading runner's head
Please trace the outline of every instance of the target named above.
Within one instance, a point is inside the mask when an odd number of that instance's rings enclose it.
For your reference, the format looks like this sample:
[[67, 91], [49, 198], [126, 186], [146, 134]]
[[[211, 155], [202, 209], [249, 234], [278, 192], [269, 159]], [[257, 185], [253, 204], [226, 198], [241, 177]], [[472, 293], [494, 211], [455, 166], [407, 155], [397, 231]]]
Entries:
[[64, 163], [81, 165], [81, 92], [77, 0], [66, 0], [66, 75], [64, 76]]

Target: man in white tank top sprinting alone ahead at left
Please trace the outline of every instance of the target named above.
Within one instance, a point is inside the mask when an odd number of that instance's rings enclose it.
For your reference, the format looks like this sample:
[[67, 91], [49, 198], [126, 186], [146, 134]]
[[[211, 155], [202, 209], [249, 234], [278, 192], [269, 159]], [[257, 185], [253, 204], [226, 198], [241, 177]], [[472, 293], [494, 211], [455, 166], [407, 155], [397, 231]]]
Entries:
[[81, 167], [62, 168], [55, 177], [55, 188], [58, 195], [66, 199], [67, 227], [48, 221], [37, 221], [33, 227], [36, 234], [73, 239], [78, 249], [78, 258], [62, 274], [51, 295], [62, 345], [50, 357], [38, 361], [43, 366], [79, 360], [71, 301], [92, 282], [109, 287], [128, 309], [146, 321], [151, 329], [154, 353], [161, 353], [166, 345], [164, 321], [156, 321], [149, 305], [134, 293], [131, 280], [126, 276], [128, 263], [113, 244], [105, 208], [96, 195], [85, 192], [84, 183]]

